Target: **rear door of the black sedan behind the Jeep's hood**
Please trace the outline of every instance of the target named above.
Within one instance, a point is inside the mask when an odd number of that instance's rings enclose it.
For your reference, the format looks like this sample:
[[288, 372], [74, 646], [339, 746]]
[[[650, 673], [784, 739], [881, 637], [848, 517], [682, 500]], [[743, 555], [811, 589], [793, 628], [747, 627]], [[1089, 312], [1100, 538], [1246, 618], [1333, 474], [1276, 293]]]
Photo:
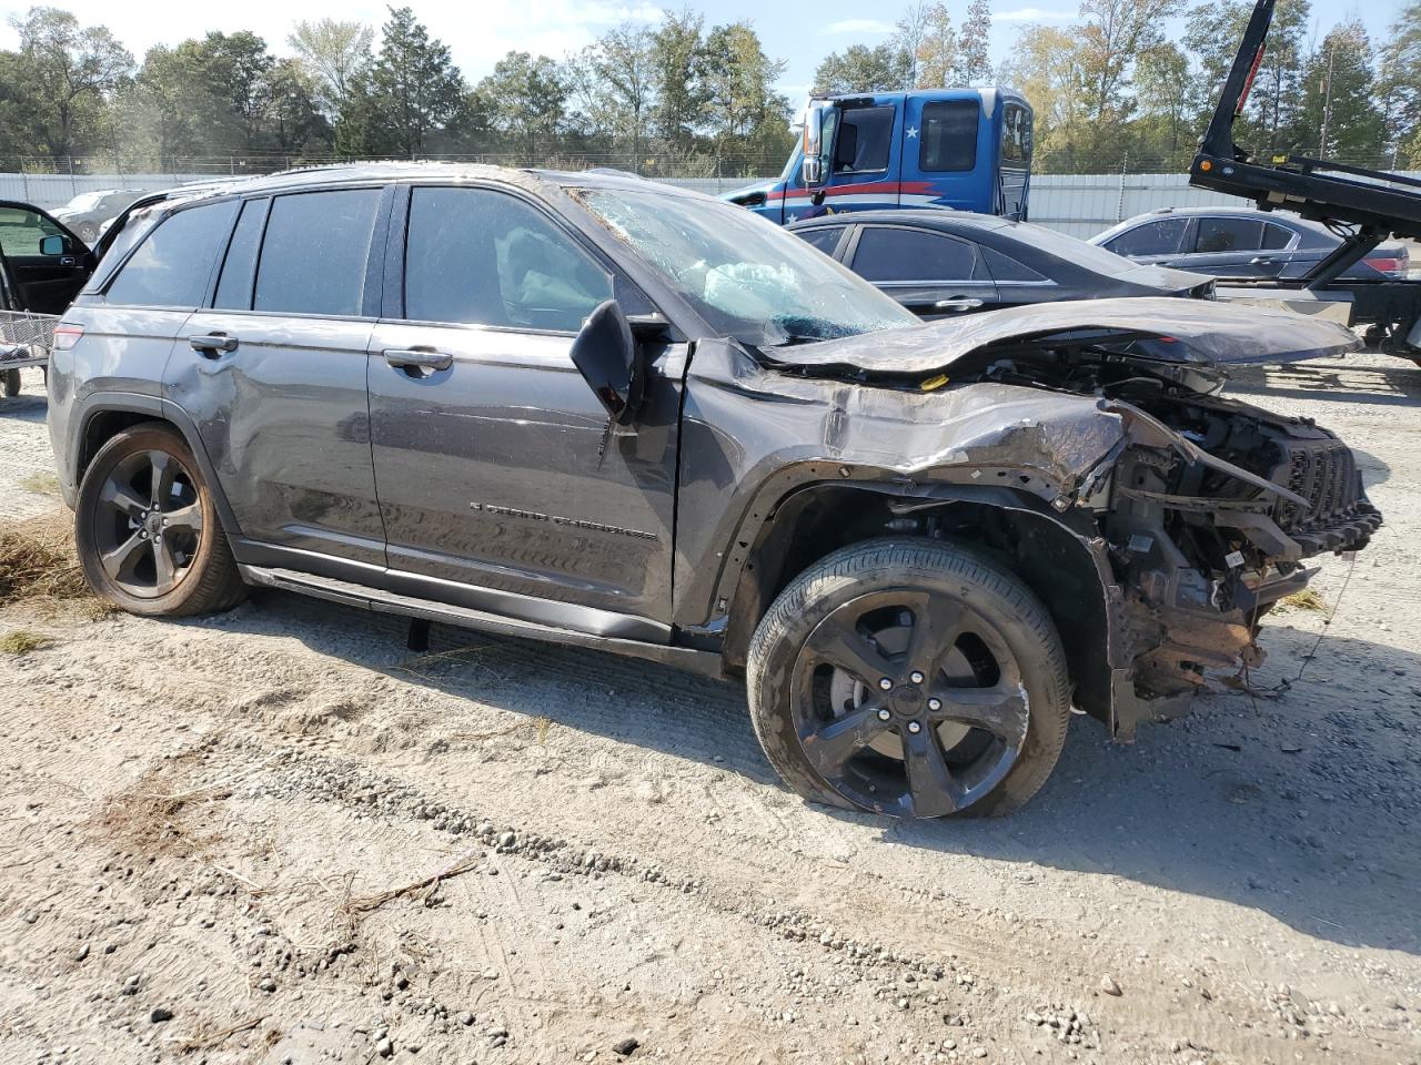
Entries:
[[998, 304], [992, 275], [972, 241], [904, 226], [863, 226], [851, 253], [855, 274], [921, 318]]

